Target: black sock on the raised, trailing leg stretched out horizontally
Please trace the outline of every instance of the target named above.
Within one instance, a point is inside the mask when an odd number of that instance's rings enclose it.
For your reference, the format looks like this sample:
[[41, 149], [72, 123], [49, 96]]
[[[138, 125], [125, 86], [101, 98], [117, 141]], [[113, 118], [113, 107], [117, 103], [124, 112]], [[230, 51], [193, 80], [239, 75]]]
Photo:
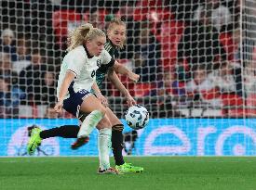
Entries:
[[52, 128], [49, 130], [44, 130], [40, 133], [42, 139], [49, 137], [60, 136], [63, 138], [76, 138], [79, 132], [78, 125], [63, 125], [61, 127]]

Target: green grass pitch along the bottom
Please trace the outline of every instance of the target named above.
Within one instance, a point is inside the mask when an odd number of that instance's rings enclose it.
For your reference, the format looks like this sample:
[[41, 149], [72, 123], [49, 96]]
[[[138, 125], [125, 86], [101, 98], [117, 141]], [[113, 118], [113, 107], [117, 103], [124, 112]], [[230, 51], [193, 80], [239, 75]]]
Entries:
[[145, 171], [98, 175], [98, 158], [0, 158], [0, 189], [256, 189], [256, 158], [128, 157], [126, 160], [143, 166]]

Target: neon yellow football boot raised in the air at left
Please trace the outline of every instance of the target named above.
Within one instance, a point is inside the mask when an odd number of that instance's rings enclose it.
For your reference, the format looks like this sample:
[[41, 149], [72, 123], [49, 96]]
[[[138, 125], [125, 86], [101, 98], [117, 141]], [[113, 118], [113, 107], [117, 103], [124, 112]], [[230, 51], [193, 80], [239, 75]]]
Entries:
[[33, 155], [36, 147], [41, 145], [42, 139], [39, 135], [41, 131], [42, 130], [38, 127], [35, 127], [31, 131], [31, 137], [29, 139], [28, 146], [27, 146], [27, 151], [29, 155]]

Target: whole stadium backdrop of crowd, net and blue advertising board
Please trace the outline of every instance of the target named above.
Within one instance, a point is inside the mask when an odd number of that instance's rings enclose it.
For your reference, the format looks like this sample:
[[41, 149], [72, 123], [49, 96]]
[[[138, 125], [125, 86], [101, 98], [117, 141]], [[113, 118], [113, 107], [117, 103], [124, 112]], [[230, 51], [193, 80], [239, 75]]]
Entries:
[[[90, 22], [127, 22], [118, 61], [141, 74], [120, 76], [151, 113], [141, 131], [125, 129], [129, 155], [255, 156], [255, 16], [252, 0], [1, 1], [0, 156], [26, 156], [26, 128], [77, 123], [52, 109], [67, 33]], [[128, 108], [109, 82], [103, 93], [123, 118]], [[39, 156], [96, 156], [88, 146], [50, 139]]]

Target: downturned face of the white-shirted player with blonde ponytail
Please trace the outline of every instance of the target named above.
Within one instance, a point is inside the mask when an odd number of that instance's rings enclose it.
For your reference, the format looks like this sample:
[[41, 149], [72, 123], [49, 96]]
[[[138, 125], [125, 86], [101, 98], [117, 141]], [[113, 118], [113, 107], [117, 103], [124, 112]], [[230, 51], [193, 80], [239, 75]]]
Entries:
[[104, 44], [106, 43], [106, 38], [103, 36], [96, 37], [87, 42], [88, 52], [91, 56], [99, 57], [102, 50], [104, 49]]

